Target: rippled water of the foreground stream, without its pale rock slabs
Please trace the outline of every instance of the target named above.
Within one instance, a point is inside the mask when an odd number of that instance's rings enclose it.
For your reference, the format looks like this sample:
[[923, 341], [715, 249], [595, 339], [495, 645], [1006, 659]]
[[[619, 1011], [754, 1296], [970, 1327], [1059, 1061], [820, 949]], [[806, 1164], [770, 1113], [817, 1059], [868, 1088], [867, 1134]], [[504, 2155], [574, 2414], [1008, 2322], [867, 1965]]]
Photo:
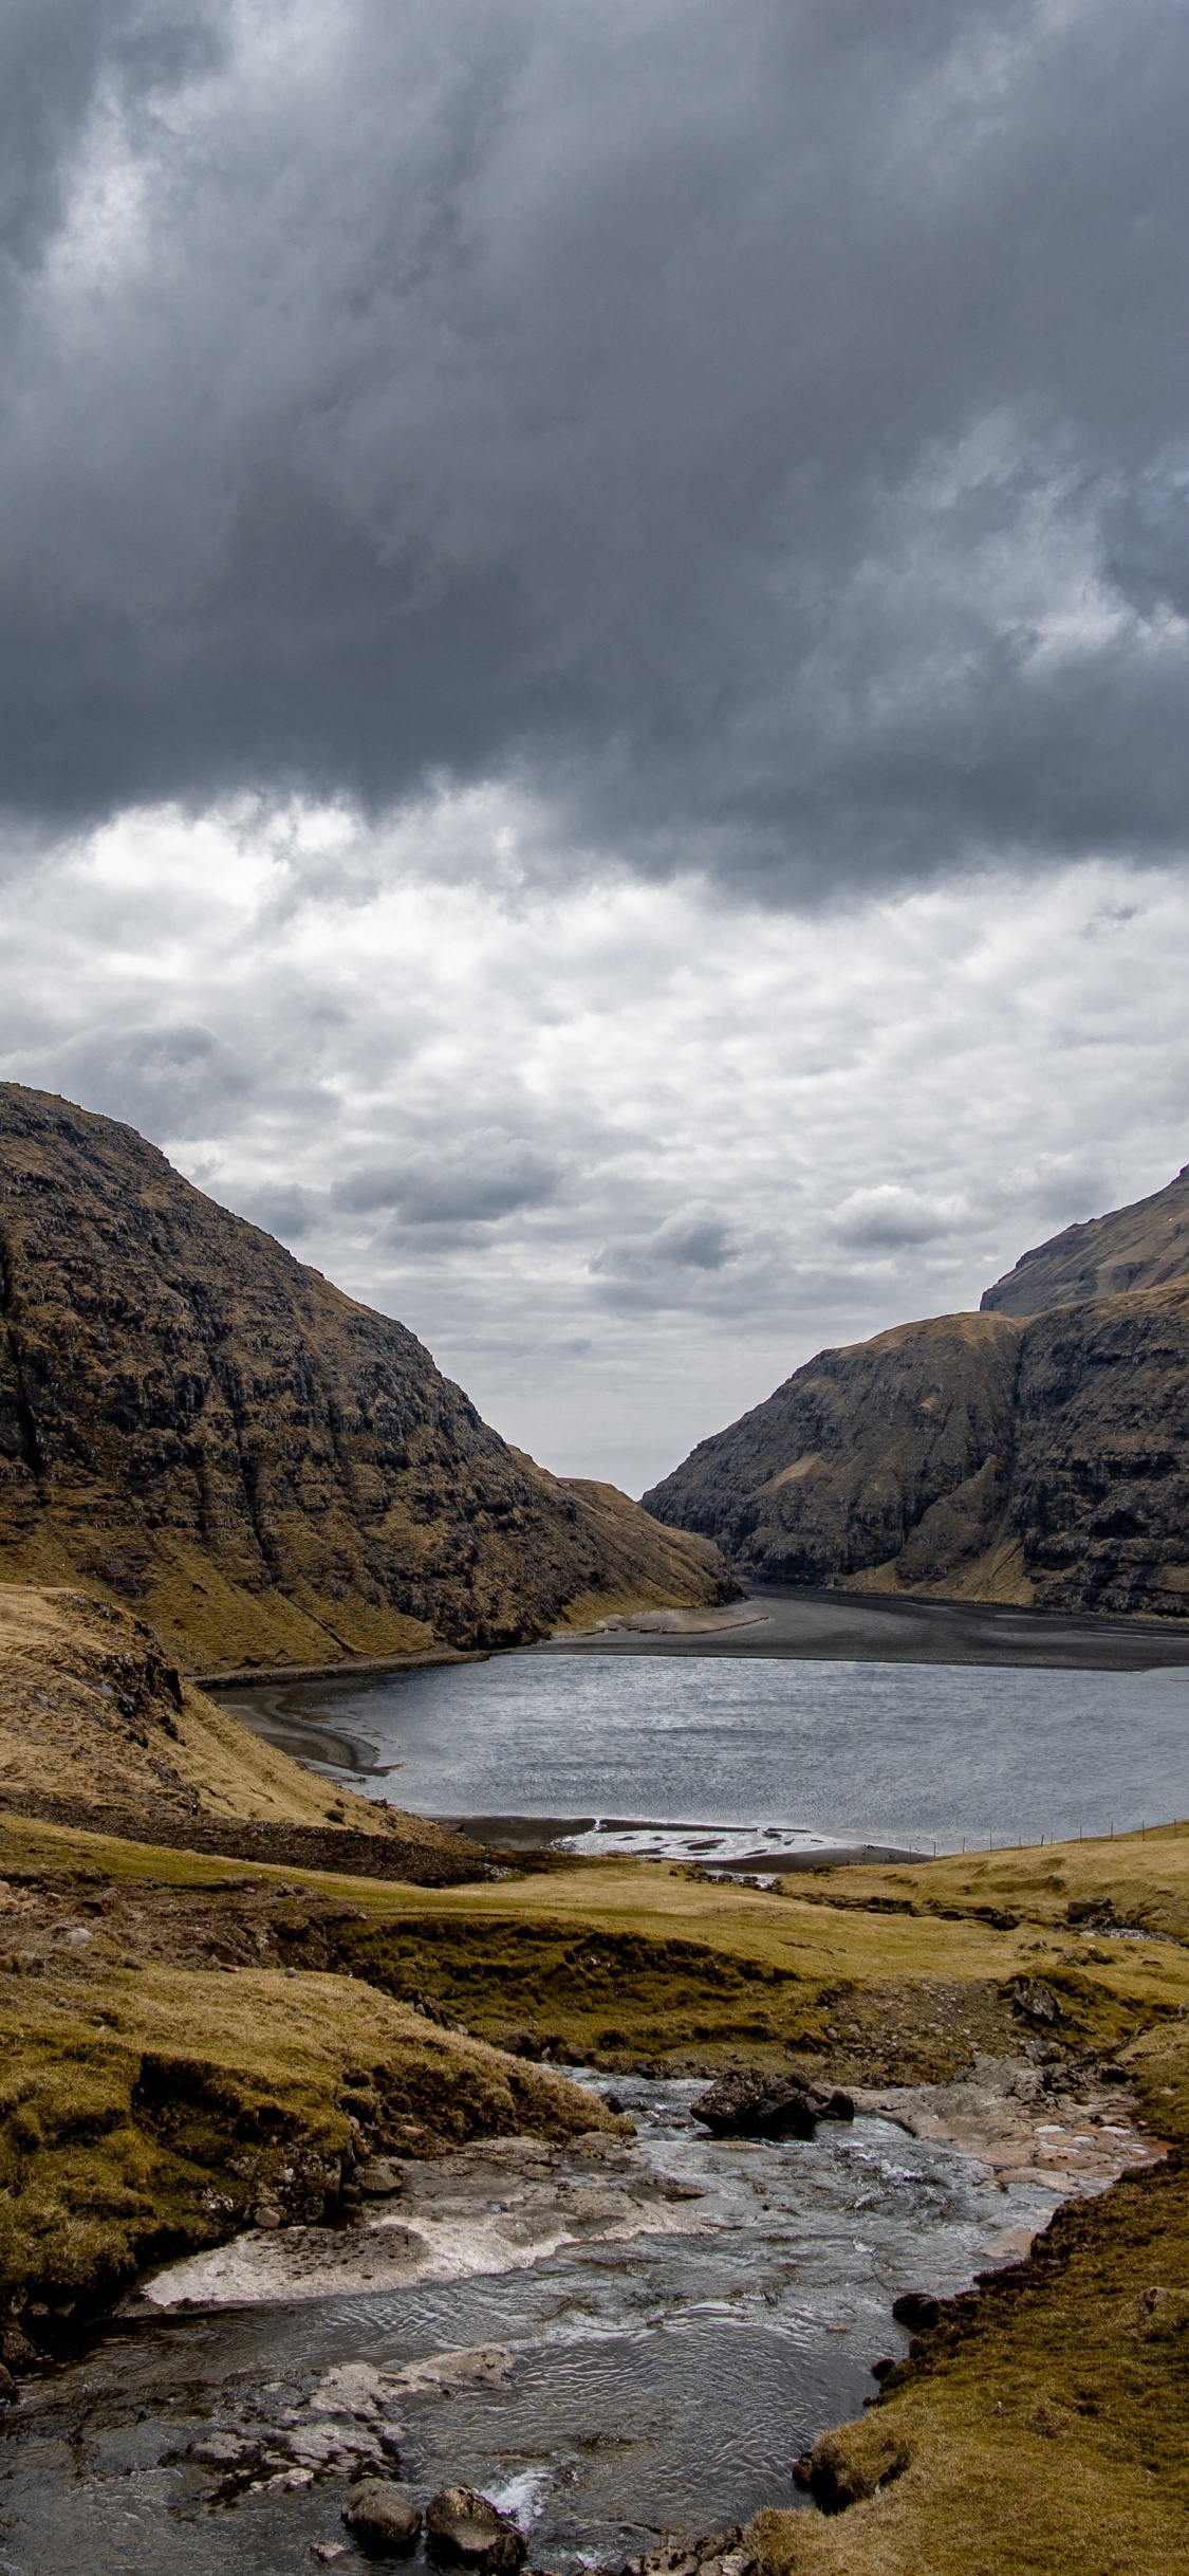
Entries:
[[[525, 2269], [116, 2329], [26, 2396], [0, 2439], [5, 2576], [296, 2576], [342, 2540], [342, 2481], [286, 2481], [270, 2427], [309, 2421], [327, 2372], [502, 2344], [499, 2385], [399, 2393], [419, 2501], [466, 2481], [530, 2532], [535, 2566], [620, 2566], [656, 2527], [713, 2530], [795, 2501], [795, 2455], [903, 2349], [890, 2300], [955, 2290], [1004, 2195], [952, 2148], [885, 2120], [808, 2143], [713, 2143], [692, 2081], [623, 2079], [641, 2154], [700, 2187], [690, 2233], [574, 2244]], [[193, 2445], [265, 2447], [263, 2486], [219, 2501]], [[278, 2478], [275, 2486], [268, 2481]]]

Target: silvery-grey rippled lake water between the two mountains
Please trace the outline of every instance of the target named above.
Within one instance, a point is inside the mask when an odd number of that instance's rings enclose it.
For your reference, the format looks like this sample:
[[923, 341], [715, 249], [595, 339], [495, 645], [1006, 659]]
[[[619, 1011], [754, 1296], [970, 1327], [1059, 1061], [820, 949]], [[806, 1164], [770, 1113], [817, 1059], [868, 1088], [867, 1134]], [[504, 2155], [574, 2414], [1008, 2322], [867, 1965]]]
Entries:
[[288, 1752], [425, 1816], [782, 1826], [947, 1852], [1189, 1814], [1189, 1664], [535, 1649], [224, 1698]]

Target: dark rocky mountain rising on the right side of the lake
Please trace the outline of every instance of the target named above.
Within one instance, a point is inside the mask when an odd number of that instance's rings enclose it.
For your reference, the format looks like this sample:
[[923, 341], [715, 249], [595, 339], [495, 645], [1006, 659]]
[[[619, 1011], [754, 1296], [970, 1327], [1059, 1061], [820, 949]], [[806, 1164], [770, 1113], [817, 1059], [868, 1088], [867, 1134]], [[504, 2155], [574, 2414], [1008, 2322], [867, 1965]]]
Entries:
[[[751, 1582], [1189, 1618], [1186, 1218], [1181, 1172], [1024, 1255], [978, 1314], [818, 1352], [646, 1510]], [[1143, 1285], [1073, 1303], [1120, 1265]]]

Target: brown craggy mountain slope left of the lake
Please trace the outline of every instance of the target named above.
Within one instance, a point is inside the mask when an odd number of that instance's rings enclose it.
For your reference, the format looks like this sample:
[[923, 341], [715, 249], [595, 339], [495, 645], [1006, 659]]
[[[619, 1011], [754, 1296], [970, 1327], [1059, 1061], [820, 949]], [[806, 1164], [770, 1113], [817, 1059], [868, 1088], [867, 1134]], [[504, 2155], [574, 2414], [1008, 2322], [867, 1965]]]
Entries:
[[0, 1582], [136, 1605], [190, 1672], [507, 1646], [723, 1569], [512, 1450], [404, 1324], [134, 1128], [0, 1084]]

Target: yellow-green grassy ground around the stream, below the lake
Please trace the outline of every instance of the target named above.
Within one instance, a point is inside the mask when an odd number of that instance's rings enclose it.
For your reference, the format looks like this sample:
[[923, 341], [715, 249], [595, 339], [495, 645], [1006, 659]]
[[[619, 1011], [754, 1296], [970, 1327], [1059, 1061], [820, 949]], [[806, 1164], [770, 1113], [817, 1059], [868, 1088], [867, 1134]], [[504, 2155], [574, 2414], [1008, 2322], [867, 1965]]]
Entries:
[[0, 2262], [46, 2306], [260, 2202], [317, 2215], [376, 2146], [589, 2125], [546, 2053], [945, 2079], [1019, 2053], [1042, 1981], [1068, 2063], [1122, 2066], [1171, 2156], [942, 2308], [818, 2445], [849, 2509], [762, 2514], [751, 2545], [764, 2576], [1189, 2576], [1189, 1829], [767, 1893], [618, 1862], [229, 1878], [8, 1816], [0, 1875]]

